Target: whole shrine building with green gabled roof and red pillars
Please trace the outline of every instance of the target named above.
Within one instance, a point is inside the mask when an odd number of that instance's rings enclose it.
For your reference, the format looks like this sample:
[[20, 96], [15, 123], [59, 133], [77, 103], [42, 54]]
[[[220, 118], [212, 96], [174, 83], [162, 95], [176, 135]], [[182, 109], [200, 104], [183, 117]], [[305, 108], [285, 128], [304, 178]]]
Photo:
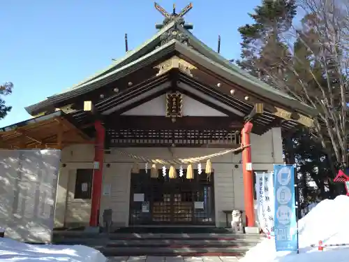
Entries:
[[[283, 163], [282, 136], [314, 108], [255, 78], [176, 13], [96, 75], [29, 105], [1, 148], [61, 150], [55, 226], [256, 226], [254, 171]], [[231, 216], [230, 216], [231, 217]], [[230, 217], [228, 220], [230, 221]]]

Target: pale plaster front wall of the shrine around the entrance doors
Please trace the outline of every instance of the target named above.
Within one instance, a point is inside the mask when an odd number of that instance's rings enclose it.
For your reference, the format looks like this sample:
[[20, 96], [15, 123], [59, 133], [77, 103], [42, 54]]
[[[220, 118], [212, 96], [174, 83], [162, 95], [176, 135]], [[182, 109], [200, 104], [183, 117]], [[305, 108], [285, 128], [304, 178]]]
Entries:
[[[273, 170], [274, 163], [282, 163], [281, 130], [272, 129], [263, 136], [252, 135], [252, 162], [255, 170]], [[221, 149], [207, 148], [126, 148], [127, 152], [149, 158], [171, 159], [198, 157]], [[62, 164], [57, 191], [56, 226], [88, 224], [90, 201], [74, 199], [75, 175], [78, 168], [92, 168], [94, 145], [74, 145], [62, 152]], [[214, 199], [216, 226], [225, 226], [222, 210], [244, 210], [244, 186], [241, 154], [225, 154], [211, 159], [214, 168]], [[107, 168], [106, 164], [110, 163]], [[120, 154], [105, 154], [103, 183], [111, 185], [110, 196], [101, 197], [101, 210], [112, 208], [113, 222], [128, 226], [131, 168], [133, 159]], [[235, 167], [237, 165], [237, 167]], [[103, 211], [101, 212], [102, 216]], [[102, 221], [102, 217], [100, 218]]]

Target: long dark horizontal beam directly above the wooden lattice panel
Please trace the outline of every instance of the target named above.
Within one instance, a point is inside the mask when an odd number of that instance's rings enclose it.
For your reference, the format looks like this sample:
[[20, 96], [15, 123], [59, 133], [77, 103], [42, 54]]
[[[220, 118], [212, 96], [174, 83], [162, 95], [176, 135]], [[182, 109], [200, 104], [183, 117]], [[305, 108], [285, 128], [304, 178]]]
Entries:
[[154, 130], [239, 130], [243, 122], [231, 117], [170, 117], [158, 116], [115, 116], [105, 117], [109, 129], [154, 129]]

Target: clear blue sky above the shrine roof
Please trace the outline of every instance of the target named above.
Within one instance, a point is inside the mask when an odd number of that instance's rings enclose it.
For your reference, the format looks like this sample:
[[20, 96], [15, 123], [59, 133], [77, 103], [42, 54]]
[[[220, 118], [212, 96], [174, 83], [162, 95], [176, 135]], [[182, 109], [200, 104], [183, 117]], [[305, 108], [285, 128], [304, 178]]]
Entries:
[[[221, 54], [239, 57], [237, 28], [250, 23], [248, 12], [261, 0], [192, 1], [185, 16], [193, 34]], [[168, 12], [172, 1], [158, 0]], [[175, 1], [177, 11], [189, 1]], [[84, 80], [124, 55], [124, 34], [133, 49], [155, 34], [163, 16], [151, 0], [0, 1], [0, 82], [11, 81], [13, 106], [0, 126], [29, 118], [24, 107]]]

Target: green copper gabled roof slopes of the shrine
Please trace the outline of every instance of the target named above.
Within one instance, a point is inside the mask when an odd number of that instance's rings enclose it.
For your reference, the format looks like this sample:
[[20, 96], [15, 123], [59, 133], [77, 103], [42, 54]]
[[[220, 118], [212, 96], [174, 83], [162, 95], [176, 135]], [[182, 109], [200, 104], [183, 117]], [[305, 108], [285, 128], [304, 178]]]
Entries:
[[[181, 33], [188, 36], [188, 42], [193, 48], [188, 48], [186, 45], [183, 45], [179, 43], [179, 41], [175, 40], [170, 41], [160, 48], [156, 48], [156, 46], [161, 43], [161, 35], [163, 35], [167, 31], [170, 31], [171, 29], [173, 29], [173, 27], [177, 27], [177, 29], [181, 31]], [[54, 104], [59, 101], [64, 101], [65, 99], [69, 99], [72, 96], [78, 96], [99, 87], [103, 87], [108, 82], [117, 80], [118, 78], [121, 78], [128, 73], [138, 70], [138, 68], [149, 64], [151, 61], [156, 61], [156, 59], [158, 59], [158, 57], [161, 57], [165, 52], [170, 52], [169, 48], [171, 46], [174, 46], [174, 48], [176, 49], [177, 47], [179, 47], [180, 50], [186, 50], [186, 53], [188, 54], [195, 54], [195, 57], [202, 57], [205, 60], [208, 59], [209, 61], [211, 61], [211, 64], [214, 64], [217, 68], [223, 69], [223, 71], [225, 71], [225, 75], [227, 75], [226, 73], [229, 73], [229, 75], [238, 85], [251, 90], [251, 92], [254, 92], [255, 94], [269, 93], [270, 99], [272, 99], [273, 97], [272, 100], [274, 101], [278, 101], [278, 99], [275, 100], [275, 97], [279, 97], [281, 98], [281, 103], [282, 101], [287, 102], [285, 103], [285, 105], [299, 104], [300, 108], [309, 108], [309, 110], [306, 111], [311, 111], [311, 108], [308, 105], [299, 103], [299, 101], [292, 98], [288, 94], [285, 94], [284, 92], [281, 92], [280, 90], [267, 85], [265, 82], [262, 82], [262, 80], [253, 77], [253, 75], [250, 75], [246, 71], [243, 71], [238, 66], [230, 64], [228, 59], [225, 59], [220, 54], [209, 48], [207, 45], [205, 45], [205, 43], [202, 43], [202, 41], [191, 34], [190, 31], [178, 25], [176, 20], [163, 27], [163, 29], [159, 30], [152, 38], [144, 42], [135, 50], [127, 52], [124, 57], [117, 59], [117, 61], [114, 61], [114, 63], [112, 63], [112, 65], [105, 70], [92, 75], [91, 77], [73, 87], [70, 87], [69, 89], [64, 90], [64, 92], [49, 96], [47, 100], [27, 107], [26, 110], [31, 113], [40, 110], [40, 108], [45, 108], [47, 105]], [[197, 50], [197, 52], [195, 50]], [[267, 98], [267, 96], [265, 97]]]

